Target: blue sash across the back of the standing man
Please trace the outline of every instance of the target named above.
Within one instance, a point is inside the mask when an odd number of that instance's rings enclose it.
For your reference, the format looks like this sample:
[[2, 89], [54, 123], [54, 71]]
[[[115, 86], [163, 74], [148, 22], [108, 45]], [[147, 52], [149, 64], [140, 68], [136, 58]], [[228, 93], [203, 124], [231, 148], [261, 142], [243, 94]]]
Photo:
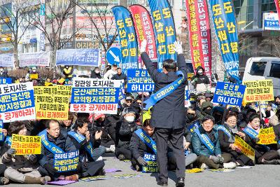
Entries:
[[181, 85], [181, 83], [183, 83], [183, 81], [185, 81], [185, 76], [183, 75], [182, 71], [177, 71], [176, 75], [180, 76], [176, 79], [176, 81], [165, 86], [165, 88], [158, 90], [158, 92], [151, 95], [151, 97], [144, 102], [146, 104], [146, 110], [148, 110], [151, 106], [154, 106], [161, 99], [170, 95], [172, 92], [174, 92], [174, 90], [176, 90], [179, 87], [179, 85]]

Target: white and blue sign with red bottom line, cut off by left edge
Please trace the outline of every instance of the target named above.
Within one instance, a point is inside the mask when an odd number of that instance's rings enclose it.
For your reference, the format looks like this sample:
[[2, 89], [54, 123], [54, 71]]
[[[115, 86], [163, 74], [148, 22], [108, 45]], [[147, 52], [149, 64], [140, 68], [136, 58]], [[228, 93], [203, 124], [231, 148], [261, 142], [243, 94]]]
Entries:
[[36, 119], [33, 83], [0, 85], [0, 118], [3, 123]]

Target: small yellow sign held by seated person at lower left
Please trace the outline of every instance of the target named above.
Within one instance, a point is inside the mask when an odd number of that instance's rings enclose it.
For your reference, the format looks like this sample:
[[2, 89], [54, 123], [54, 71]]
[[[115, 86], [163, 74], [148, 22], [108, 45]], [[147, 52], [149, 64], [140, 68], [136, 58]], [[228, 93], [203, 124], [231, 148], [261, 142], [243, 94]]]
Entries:
[[41, 155], [41, 137], [13, 134], [10, 147], [17, 150], [15, 155]]

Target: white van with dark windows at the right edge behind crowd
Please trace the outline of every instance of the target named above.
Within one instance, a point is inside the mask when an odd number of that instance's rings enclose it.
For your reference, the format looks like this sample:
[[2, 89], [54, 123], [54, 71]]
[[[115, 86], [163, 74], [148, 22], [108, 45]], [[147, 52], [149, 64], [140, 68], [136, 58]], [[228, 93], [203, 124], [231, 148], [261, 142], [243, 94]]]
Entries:
[[280, 58], [251, 57], [246, 62], [243, 81], [272, 79], [274, 97], [280, 95]]

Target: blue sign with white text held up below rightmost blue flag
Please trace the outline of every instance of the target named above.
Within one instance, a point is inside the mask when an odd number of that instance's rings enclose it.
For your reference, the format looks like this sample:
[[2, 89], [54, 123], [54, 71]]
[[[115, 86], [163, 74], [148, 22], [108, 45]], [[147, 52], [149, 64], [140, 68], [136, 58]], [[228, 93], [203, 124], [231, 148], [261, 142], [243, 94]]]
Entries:
[[218, 82], [213, 102], [241, 106], [246, 85]]

